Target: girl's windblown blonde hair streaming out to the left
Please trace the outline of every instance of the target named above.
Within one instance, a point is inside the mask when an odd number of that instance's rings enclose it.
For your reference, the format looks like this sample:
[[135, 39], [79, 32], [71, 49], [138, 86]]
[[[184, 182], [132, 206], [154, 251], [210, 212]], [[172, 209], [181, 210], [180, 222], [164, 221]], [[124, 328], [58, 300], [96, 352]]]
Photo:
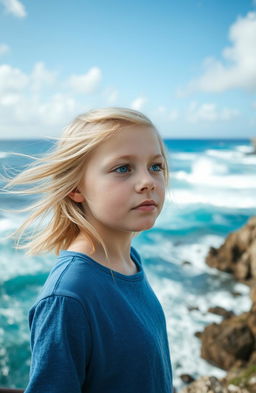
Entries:
[[[164, 144], [153, 123], [145, 115], [132, 109], [120, 107], [94, 109], [81, 114], [64, 129], [62, 137], [52, 138], [58, 142], [47, 154], [35, 158], [13, 153], [33, 158], [35, 162], [27, 165], [23, 172], [11, 180], [8, 178], [4, 190], [16, 185], [31, 185], [36, 182], [38, 183], [36, 186], [30, 186], [25, 190], [8, 192], [27, 195], [43, 194], [36, 203], [24, 209], [15, 210], [16, 212], [33, 212], [14, 233], [8, 236], [15, 237], [20, 233], [16, 243], [17, 249], [28, 249], [26, 255], [52, 250], [58, 255], [61, 249], [69, 247], [79, 234], [80, 229], [83, 229], [93, 250], [95, 250], [94, 241], [98, 241], [107, 256], [103, 239], [86, 220], [84, 206], [73, 201], [68, 194], [78, 187], [88, 154], [127, 125], [154, 128], [164, 157], [164, 177], [166, 185], [168, 184], [169, 170]], [[37, 219], [42, 220], [49, 213], [51, 213], [51, 219], [47, 226], [42, 228], [39, 225], [37, 231], [26, 237], [26, 240], [29, 239], [29, 241], [20, 245], [19, 241], [25, 230]]]

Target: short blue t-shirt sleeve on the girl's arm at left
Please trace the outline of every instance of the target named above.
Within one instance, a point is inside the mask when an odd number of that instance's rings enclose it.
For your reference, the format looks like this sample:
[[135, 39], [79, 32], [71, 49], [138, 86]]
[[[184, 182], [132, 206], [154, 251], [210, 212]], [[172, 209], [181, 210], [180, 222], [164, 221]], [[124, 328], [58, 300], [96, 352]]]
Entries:
[[81, 393], [91, 337], [82, 304], [53, 295], [30, 311], [31, 366], [25, 393]]

